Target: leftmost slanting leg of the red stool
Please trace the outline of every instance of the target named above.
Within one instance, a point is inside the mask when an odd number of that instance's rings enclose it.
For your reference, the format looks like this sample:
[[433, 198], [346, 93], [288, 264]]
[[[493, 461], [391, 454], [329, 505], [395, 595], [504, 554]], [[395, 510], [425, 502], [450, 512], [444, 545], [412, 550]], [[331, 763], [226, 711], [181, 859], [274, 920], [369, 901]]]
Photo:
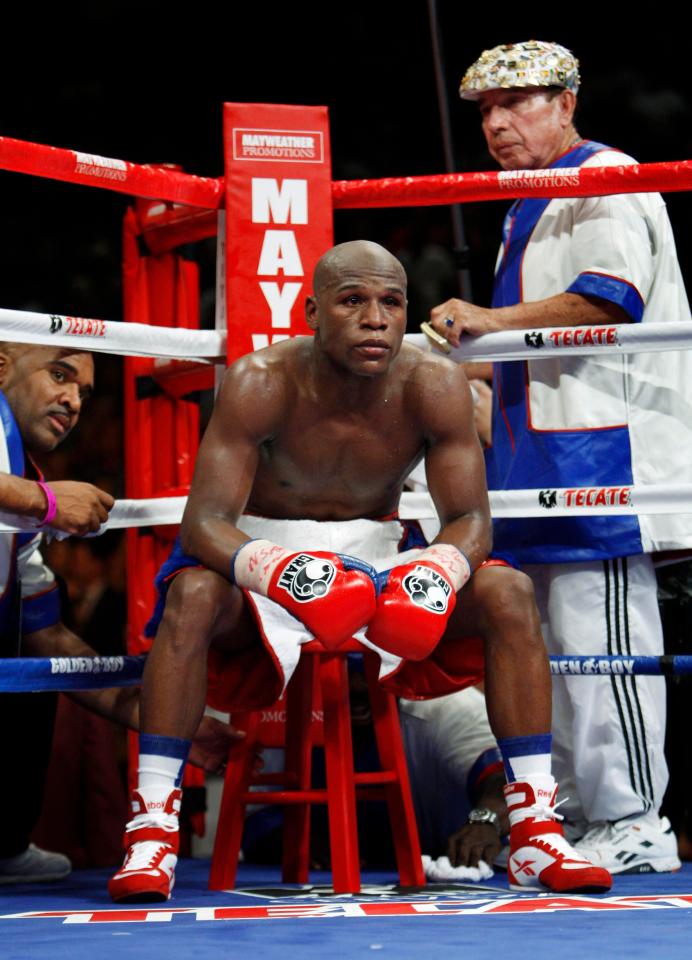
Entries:
[[250, 785], [255, 762], [255, 731], [260, 713], [234, 714], [233, 725], [245, 730], [244, 740], [235, 741], [228, 755], [219, 822], [209, 870], [210, 890], [229, 890], [235, 885], [238, 855], [243, 839], [245, 803], [242, 799]]

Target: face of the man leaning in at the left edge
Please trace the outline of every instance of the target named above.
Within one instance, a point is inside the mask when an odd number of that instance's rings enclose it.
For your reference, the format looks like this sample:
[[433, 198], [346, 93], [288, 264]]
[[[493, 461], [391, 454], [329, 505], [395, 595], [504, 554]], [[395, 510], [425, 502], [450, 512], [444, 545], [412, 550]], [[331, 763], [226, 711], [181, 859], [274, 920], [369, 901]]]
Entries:
[[51, 347], [0, 351], [0, 389], [32, 452], [48, 453], [62, 443], [93, 387], [91, 354]]

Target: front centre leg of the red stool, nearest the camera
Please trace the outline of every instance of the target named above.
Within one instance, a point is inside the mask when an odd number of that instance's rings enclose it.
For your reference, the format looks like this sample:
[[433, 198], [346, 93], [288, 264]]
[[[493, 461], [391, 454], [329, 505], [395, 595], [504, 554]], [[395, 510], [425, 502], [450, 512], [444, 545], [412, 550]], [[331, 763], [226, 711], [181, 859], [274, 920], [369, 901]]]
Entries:
[[335, 893], [358, 893], [360, 860], [346, 657], [321, 655], [320, 679], [332, 884]]

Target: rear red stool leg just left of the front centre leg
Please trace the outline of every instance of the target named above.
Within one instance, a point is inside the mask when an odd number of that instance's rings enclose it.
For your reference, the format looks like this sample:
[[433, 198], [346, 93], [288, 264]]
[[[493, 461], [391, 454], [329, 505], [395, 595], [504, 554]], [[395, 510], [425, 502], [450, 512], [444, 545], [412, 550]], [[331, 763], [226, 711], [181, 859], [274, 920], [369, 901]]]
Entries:
[[[296, 775], [298, 790], [309, 790], [312, 778], [312, 690], [315, 658], [300, 658], [286, 695], [286, 771]], [[284, 807], [284, 883], [307, 883], [310, 867], [310, 804]]]

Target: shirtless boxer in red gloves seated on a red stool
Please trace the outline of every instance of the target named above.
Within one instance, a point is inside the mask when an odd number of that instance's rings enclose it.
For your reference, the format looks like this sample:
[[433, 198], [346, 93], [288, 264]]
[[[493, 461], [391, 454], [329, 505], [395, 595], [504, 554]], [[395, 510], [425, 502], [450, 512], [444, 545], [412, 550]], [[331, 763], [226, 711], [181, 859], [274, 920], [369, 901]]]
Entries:
[[[446, 688], [430, 681], [441, 675], [436, 663], [447, 658], [449, 667], [461, 637], [482, 637], [488, 713], [508, 779], [510, 883], [606, 890], [610, 875], [575, 854], [553, 811], [550, 675], [530, 582], [508, 566], [481, 566], [490, 516], [464, 374], [403, 343], [406, 275], [382, 247], [334, 247], [313, 283], [306, 312], [314, 337], [233, 364], [200, 446], [181, 528], [188, 556], [180, 551], [167, 567], [178, 575], [168, 581], [145, 671], [135, 816], [110, 894], [170, 896], [178, 786], [205, 705], [208, 651], [215, 668], [225, 658], [246, 671], [246, 700], [257, 691], [257, 664], [276, 673], [281, 661], [288, 679], [297, 653], [291, 660], [283, 633], [272, 640], [258, 630], [262, 604], [296, 624], [303, 640], [314, 634], [328, 646], [365, 628], [383, 664], [402, 658], [412, 687], [420, 676], [419, 696], [453, 688], [451, 668]], [[381, 548], [369, 531], [400, 528], [391, 517], [421, 458], [442, 529], [413, 560], [396, 558], [393, 541], [389, 569], [378, 575], [370, 564], [383, 566]], [[363, 538], [358, 558], [324, 549], [352, 524]], [[283, 543], [267, 529], [285, 534]], [[293, 529], [297, 542], [288, 543]], [[263, 692], [271, 702], [280, 689]]]

